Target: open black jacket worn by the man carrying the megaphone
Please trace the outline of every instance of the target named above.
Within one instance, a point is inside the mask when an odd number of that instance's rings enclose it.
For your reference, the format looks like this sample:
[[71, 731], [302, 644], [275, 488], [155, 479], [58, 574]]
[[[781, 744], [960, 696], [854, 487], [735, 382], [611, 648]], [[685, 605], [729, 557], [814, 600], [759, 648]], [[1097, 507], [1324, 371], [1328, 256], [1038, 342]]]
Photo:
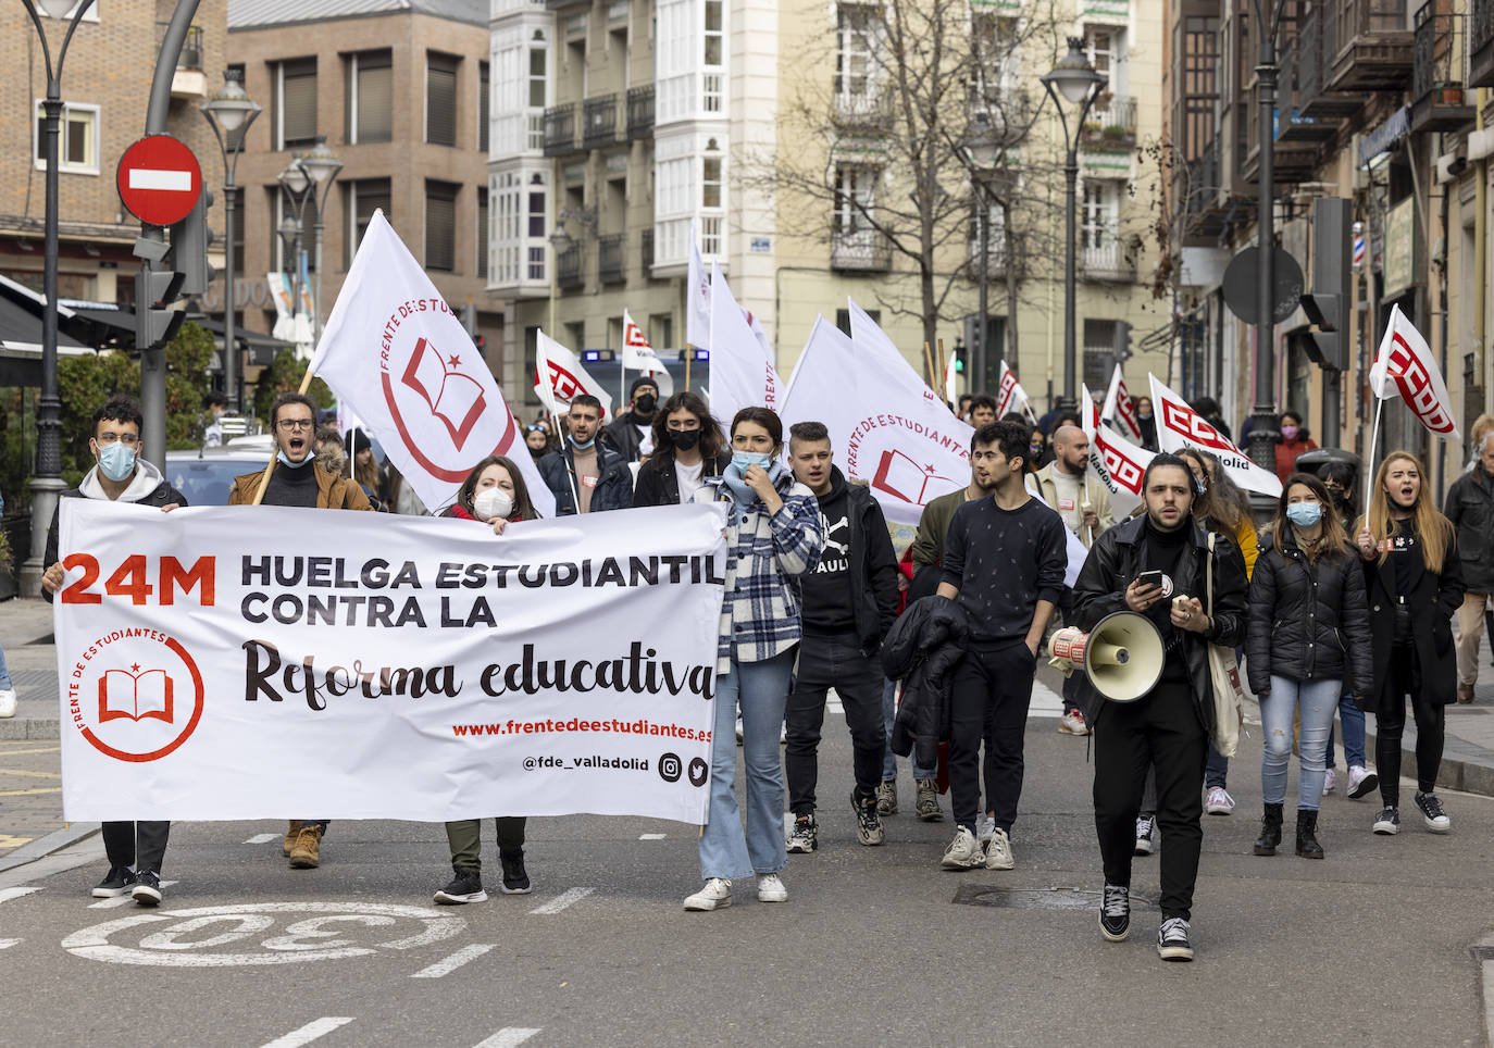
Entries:
[[[1173, 594], [1197, 597], [1206, 605], [1204, 570], [1209, 558], [1209, 536], [1189, 523], [1192, 543], [1183, 549], [1173, 572]], [[1107, 528], [1085, 558], [1074, 581], [1074, 624], [1092, 630], [1106, 615], [1126, 611], [1125, 590], [1141, 572], [1146, 514]], [[1245, 643], [1250, 609], [1246, 597], [1245, 557], [1228, 537], [1215, 539], [1215, 602], [1213, 624], [1207, 633], [1183, 631], [1183, 655], [1188, 660], [1188, 681], [1194, 691], [1194, 706], [1206, 732], [1213, 732], [1213, 684], [1209, 678], [1209, 645], [1237, 648]], [[1100, 720], [1100, 709], [1095, 720]]]

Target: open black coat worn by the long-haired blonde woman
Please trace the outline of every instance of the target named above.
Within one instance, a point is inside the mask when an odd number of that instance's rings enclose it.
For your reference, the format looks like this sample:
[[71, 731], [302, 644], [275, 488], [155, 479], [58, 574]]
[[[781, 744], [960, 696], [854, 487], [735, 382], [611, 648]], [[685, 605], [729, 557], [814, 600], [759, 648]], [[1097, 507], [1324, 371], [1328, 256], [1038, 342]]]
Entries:
[[[1386, 558], [1361, 560], [1364, 567], [1364, 594], [1370, 602], [1370, 643], [1374, 657], [1374, 700], [1370, 709], [1379, 711], [1382, 703], [1404, 702], [1391, 688], [1391, 652], [1395, 649], [1395, 567]], [[1406, 594], [1410, 605], [1410, 636], [1416, 648], [1416, 669], [1421, 679], [1421, 694], [1436, 706], [1451, 703], [1458, 690], [1458, 661], [1452, 652], [1452, 614], [1463, 605], [1463, 567], [1458, 560], [1457, 542], [1448, 543], [1448, 555], [1442, 573], [1433, 575], [1422, 569], [1416, 584]]]

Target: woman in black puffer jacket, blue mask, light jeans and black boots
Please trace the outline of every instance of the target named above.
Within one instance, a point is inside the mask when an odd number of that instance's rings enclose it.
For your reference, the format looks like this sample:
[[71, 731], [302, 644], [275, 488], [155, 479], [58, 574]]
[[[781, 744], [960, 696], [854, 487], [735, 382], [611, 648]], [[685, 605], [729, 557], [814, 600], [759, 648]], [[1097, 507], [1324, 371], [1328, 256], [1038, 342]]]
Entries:
[[1292, 720], [1301, 715], [1301, 772], [1297, 778], [1297, 854], [1322, 858], [1318, 806], [1333, 711], [1345, 688], [1370, 694], [1370, 618], [1364, 573], [1333, 512], [1328, 490], [1310, 473], [1286, 478], [1276, 518], [1261, 536], [1250, 579], [1250, 633], [1246, 640], [1250, 691], [1261, 700], [1261, 793], [1265, 814], [1256, 855], [1274, 855], [1282, 842], [1286, 764]]

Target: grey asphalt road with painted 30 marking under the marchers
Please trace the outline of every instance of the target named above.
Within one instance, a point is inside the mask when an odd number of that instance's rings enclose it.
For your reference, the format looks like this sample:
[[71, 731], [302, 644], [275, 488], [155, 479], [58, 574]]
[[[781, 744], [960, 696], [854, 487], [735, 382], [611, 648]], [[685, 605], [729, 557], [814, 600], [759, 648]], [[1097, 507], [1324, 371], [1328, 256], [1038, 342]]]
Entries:
[[822, 849], [790, 855], [787, 905], [748, 882], [714, 914], [680, 906], [693, 827], [653, 820], [533, 820], [533, 894], [462, 908], [430, 905], [450, 876], [439, 826], [333, 823], [321, 869], [299, 872], [284, 823], [179, 824], [158, 911], [88, 897], [93, 838], [0, 873], [0, 1044], [1485, 1044], [1494, 800], [1446, 794], [1448, 836], [1407, 820], [1374, 838], [1373, 800], [1340, 794], [1325, 861], [1256, 858], [1256, 730], [1237, 814], [1206, 818], [1198, 960], [1167, 964], [1155, 857], [1137, 860], [1131, 939], [1095, 927], [1085, 740], [1034, 718], [1026, 752], [1017, 869], [947, 873], [952, 824], [911, 817], [905, 772], [887, 843], [856, 843], [832, 733]]

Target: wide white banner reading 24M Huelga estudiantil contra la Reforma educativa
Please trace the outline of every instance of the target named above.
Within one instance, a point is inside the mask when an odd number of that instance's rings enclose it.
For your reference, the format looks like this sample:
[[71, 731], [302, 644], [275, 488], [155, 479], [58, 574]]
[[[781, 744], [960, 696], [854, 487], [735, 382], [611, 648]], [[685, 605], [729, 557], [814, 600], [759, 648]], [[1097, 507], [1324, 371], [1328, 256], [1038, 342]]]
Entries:
[[705, 821], [719, 505], [60, 512], [69, 820]]

